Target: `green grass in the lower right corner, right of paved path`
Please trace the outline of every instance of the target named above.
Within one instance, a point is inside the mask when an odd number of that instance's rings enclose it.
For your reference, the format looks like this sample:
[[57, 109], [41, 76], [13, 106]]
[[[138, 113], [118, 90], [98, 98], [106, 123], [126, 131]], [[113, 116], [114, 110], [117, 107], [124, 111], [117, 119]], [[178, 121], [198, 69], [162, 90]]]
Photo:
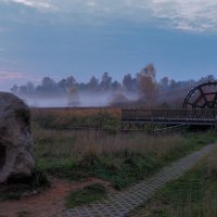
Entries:
[[217, 216], [217, 150], [180, 179], [166, 184], [130, 217]]

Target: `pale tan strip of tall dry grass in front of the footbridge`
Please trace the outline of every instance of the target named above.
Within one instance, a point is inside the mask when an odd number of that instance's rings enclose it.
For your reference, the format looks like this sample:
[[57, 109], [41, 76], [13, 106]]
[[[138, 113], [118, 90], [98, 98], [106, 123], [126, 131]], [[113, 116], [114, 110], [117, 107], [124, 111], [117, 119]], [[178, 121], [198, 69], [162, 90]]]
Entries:
[[76, 152], [87, 155], [89, 152], [95, 155], [114, 155], [123, 150], [141, 154], [166, 155], [171, 149], [180, 145], [181, 139], [178, 135], [162, 137], [150, 137], [142, 133], [133, 135], [104, 135], [100, 132], [79, 132], [75, 144]]

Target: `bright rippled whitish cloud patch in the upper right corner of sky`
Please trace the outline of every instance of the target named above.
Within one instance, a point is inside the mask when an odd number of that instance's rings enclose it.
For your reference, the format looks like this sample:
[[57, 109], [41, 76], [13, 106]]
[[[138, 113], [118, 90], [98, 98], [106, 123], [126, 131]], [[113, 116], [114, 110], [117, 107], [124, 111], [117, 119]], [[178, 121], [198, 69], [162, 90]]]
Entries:
[[176, 29], [217, 30], [216, 0], [150, 0], [148, 7], [154, 17], [164, 18]]

